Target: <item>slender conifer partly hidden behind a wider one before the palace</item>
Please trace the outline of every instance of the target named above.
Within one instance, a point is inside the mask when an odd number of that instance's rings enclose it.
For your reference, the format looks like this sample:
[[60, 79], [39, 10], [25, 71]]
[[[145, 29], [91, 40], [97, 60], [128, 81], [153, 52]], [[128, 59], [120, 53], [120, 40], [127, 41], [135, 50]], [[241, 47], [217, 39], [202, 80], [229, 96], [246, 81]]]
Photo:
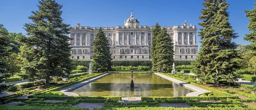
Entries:
[[154, 29], [152, 30], [152, 45], [151, 45], [151, 56], [152, 56], [152, 70], [153, 71], [157, 71], [157, 58], [155, 57], [155, 54], [156, 54], [156, 49], [155, 49], [155, 46], [158, 42], [158, 38], [157, 38], [157, 35], [160, 33], [161, 31], [161, 26], [156, 23]]

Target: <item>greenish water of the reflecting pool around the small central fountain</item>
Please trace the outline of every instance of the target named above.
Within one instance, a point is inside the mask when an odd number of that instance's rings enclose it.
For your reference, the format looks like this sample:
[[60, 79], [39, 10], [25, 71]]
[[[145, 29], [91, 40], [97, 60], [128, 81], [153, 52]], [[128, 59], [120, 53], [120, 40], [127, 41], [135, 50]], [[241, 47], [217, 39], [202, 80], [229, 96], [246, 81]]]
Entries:
[[[131, 80], [134, 88], [130, 87]], [[74, 89], [79, 96], [186, 96], [193, 92], [153, 73], [113, 73]]]

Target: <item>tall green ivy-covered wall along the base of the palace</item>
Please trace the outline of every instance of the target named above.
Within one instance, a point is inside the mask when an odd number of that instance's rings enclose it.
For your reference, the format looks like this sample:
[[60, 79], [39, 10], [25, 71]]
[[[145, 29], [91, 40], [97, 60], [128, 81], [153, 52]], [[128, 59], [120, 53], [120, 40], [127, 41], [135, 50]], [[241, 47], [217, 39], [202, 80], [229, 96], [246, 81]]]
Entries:
[[[91, 60], [75, 60], [76, 66], [83, 65], [89, 67]], [[149, 66], [152, 67], [151, 60], [112, 60], [113, 66]], [[190, 65], [191, 60], [174, 60], [176, 66], [179, 65]]]

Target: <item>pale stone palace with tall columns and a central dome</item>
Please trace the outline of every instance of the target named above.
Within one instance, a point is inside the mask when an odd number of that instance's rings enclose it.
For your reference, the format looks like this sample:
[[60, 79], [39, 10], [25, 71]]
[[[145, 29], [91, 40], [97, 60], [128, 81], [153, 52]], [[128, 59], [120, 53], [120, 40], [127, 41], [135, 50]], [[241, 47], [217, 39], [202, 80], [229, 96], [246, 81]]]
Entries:
[[[140, 22], [131, 16], [125, 20], [123, 26], [102, 28], [109, 40], [113, 60], [151, 60], [152, 30], [154, 26], [141, 26]], [[194, 60], [198, 55], [195, 25], [173, 27], [163, 26], [173, 38], [174, 60]], [[93, 56], [93, 41], [98, 32], [97, 27], [70, 27], [69, 37], [72, 47], [71, 59], [91, 60]]]

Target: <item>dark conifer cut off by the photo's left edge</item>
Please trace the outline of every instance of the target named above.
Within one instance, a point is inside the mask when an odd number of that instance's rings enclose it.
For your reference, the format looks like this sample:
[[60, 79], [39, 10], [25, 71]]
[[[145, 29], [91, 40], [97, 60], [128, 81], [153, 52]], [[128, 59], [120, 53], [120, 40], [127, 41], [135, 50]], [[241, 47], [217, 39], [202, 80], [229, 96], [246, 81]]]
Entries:
[[[8, 65], [6, 63], [6, 57], [10, 55], [10, 37], [8, 36], [8, 31], [6, 28], [0, 24], [0, 83], [4, 81], [6, 72], [8, 70]], [[0, 84], [0, 94], [5, 91], [8, 86]]]

